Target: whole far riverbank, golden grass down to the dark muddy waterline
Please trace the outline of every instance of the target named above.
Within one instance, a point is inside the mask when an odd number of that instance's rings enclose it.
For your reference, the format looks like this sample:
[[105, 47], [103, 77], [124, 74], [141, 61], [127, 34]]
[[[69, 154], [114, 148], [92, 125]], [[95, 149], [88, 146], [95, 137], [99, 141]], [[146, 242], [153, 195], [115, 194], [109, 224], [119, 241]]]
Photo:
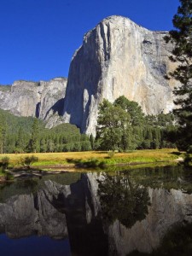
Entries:
[[[84, 170], [117, 170], [148, 165], [170, 165], [182, 160], [175, 148], [135, 150], [126, 153], [103, 151], [0, 154], [0, 162], [9, 159], [9, 172], [1, 173], [1, 180], [8, 177], [39, 176], [46, 173], [84, 172]], [[37, 158], [30, 166], [23, 166], [26, 158]], [[44, 172], [46, 171], [46, 172]], [[0, 180], [0, 181], [1, 181]]]

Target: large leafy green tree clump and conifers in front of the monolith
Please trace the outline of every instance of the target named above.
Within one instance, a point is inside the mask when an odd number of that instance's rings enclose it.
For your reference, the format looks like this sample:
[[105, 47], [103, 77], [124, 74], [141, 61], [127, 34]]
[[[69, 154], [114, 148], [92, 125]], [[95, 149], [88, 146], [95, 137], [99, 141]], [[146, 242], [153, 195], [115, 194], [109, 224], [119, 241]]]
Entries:
[[[104, 100], [99, 108], [95, 148], [127, 151], [174, 148], [174, 116], [144, 116], [137, 102], [120, 96], [113, 104]], [[96, 146], [99, 145], [99, 146]]]

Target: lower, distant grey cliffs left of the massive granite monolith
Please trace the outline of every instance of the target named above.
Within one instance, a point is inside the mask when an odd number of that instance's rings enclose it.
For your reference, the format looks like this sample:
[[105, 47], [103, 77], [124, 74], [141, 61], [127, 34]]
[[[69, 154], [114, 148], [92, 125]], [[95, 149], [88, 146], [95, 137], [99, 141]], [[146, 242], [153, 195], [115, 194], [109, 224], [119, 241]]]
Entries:
[[[66, 86], [67, 79], [62, 78], [38, 83], [15, 81], [10, 90], [0, 88], [0, 108], [18, 116], [48, 120], [54, 113], [61, 115]], [[50, 122], [49, 126], [53, 125]]]

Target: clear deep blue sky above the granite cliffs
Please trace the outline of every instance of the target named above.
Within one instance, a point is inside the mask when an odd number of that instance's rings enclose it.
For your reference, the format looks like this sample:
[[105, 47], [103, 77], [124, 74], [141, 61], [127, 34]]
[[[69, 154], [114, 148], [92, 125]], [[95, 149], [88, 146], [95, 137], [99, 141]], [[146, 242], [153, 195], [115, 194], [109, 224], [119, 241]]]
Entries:
[[67, 77], [85, 32], [109, 15], [172, 29], [178, 0], [0, 0], [0, 84]]

